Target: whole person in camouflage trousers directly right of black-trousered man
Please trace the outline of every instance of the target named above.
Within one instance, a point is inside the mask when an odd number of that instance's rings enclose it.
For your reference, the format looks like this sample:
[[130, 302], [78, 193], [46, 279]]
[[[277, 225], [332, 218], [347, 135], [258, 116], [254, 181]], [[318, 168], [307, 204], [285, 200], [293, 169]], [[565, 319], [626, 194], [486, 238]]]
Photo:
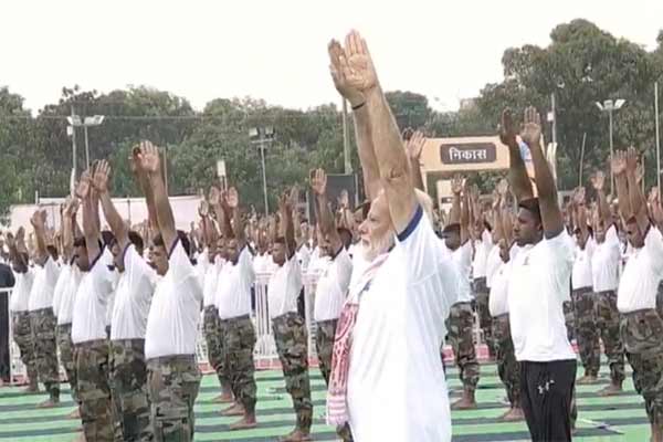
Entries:
[[573, 191], [571, 213], [576, 234], [576, 251], [571, 271], [571, 304], [578, 354], [585, 367], [585, 376], [577, 382], [578, 385], [591, 385], [598, 381], [601, 368], [601, 347], [597, 333], [596, 296], [591, 275], [596, 242], [589, 231], [585, 188], [582, 187]]

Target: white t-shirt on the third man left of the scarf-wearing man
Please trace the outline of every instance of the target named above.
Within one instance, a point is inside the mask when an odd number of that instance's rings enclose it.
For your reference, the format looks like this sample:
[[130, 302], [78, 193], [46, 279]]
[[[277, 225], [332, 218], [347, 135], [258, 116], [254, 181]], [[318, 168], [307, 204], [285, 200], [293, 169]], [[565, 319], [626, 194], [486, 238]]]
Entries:
[[249, 248], [240, 252], [236, 264], [228, 262], [219, 274], [217, 308], [221, 319], [251, 314], [251, 286], [255, 280]]

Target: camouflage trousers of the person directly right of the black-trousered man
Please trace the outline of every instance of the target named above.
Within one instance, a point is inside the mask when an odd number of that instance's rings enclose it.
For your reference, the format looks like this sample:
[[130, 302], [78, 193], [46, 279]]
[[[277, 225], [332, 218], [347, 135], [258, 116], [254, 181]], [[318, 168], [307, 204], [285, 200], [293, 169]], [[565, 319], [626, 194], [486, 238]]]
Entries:
[[597, 377], [601, 368], [601, 346], [597, 330], [596, 296], [591, 288], [572, 292], [576, 343], [586, 376]]

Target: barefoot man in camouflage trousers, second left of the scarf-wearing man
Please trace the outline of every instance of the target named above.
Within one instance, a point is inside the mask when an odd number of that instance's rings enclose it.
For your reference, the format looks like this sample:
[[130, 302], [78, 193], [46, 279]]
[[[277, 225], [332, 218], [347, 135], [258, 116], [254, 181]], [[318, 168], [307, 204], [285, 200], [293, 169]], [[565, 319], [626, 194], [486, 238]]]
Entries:
[[278, 201], [280, 225], [273, 239], [274, 272], [267, 284], [267, 304], [274, 341], [285, 389], [293, 399], [296, 414], [295, 429], [281, 441], [311, 440], [313, 402], [308, 377], [308, 332], [304, 317], [297, 312], [297, 297], [302, 291], [302, 267], [295, 254], [296, 241], [293, 225], [293, 206], [284, 194]]

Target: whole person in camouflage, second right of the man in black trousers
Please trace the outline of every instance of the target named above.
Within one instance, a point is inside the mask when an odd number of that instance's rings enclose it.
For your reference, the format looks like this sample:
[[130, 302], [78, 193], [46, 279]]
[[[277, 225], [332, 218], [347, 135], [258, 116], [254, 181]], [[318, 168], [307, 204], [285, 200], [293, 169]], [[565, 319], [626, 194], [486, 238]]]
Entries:
[[622, 391], [625, 378], [624, 345], [619, 334], [620, 314], [617, 308], [621, 244], [603, 192], [604, 180], [601, 171], [591, 178], [598, 197], [598, 208], [592, 217], [596, 248], [591, 257], [591, 274], [596, 296], [597, 333], [603, 341], [611, 380], [609, 386], [599, 390], [599, 394], [612, 396]]

